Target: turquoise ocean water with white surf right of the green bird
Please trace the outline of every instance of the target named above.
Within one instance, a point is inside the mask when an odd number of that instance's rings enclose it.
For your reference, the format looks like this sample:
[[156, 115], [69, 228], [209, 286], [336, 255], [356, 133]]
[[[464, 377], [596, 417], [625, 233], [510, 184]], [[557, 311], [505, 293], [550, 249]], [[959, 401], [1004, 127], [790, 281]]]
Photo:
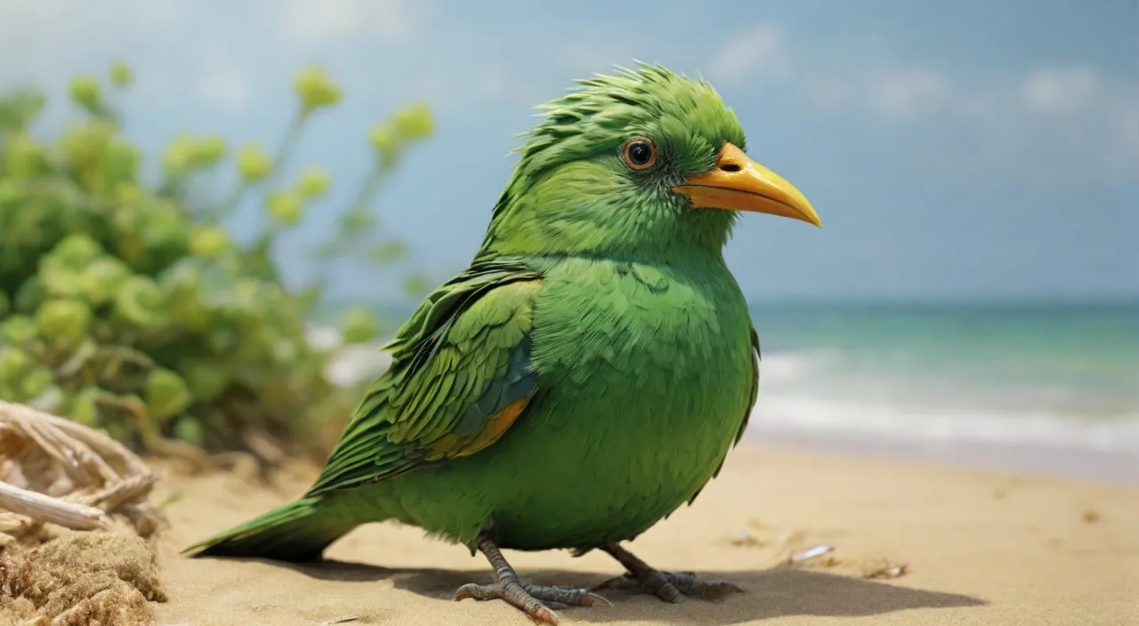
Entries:
[[1139, 303], [752, 304], [764, 430], [1139, 454]]

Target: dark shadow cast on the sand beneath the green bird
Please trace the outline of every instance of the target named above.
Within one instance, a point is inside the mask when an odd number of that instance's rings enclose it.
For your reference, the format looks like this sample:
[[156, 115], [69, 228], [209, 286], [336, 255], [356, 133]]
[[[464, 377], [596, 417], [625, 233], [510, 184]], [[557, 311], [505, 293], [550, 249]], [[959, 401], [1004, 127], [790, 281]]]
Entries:
[[[325, 580], [393, 580], [396, 588], [419, 595], [451, 600], [466, 583], [489, 583], [486, 570], [390, 569], [363, 563], [326, 560], [306, 566], [288, 566]], [[542, 585], [591, 587], [612, 575], [563, 570], [519, 570], [524, 579]], [[746, 590], [723, 600], [689, 600], [667, 604], [656, 598], [606, 590], [612, 608], [563, 609], [566, 617], [583, 621], [616, 619], [669, 621], [674, 624], [739, 624], [781, 616], [857, 617], [921, 608], [980, 607], [984, 600], [954, 593], [916, 590], [876, 580], [865, 580], [819, 571], [776, 567], [765, 570], [697, 573], [704, 578], [723, 578]], [[469, 601], [468, 601], [469, 602]]]

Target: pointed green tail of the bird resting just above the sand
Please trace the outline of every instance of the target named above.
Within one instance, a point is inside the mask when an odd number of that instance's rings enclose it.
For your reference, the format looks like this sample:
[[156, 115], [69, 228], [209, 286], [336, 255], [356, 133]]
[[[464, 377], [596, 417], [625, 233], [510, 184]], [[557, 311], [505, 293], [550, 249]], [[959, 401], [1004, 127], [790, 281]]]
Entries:
[[305, 497], [236, 526], [182, 552], [195, 557], [251, 557], [312, 561], [357, 526], [322, 497]]

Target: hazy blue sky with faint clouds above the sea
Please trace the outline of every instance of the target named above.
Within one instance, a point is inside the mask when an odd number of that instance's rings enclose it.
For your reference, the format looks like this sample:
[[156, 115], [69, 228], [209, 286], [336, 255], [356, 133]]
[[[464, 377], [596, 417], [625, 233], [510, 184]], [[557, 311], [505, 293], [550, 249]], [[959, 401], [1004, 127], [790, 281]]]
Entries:
[[[377, 206], [441, 281], [477, 249], [535, 105], [661, 63], [708, 79], [749, 156], [823, 220], [745, 216], [726, 257], [752, 298], [1134, 297], [1137, 32], [1133, 0], [0, 0], [0, 89], [57, 96], [47, 132], [74, 116], [72, 75], [125, 60], [126, 133], [158, 155], [185, 131], [274, 146], [293, 75], [326, 67], [345, 99], [293, 163], [338, 187], [282, 242], [296, 280], [370, 166], [368, 127], [426, 101], [437, 133]], [[345, 269], [334, 290], [393, 282]]]

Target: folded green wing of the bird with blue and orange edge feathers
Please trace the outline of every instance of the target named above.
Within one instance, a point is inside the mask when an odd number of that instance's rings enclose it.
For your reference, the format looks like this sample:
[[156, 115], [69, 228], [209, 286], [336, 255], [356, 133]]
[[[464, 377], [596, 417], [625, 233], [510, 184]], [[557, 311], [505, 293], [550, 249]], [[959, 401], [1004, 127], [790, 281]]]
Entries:
[[357, 487], [493, 444], [538, 387], [530, 368], [541, 274], [477, 263], [436, 289], [385, 346], [368, 389], [306, 495]]

